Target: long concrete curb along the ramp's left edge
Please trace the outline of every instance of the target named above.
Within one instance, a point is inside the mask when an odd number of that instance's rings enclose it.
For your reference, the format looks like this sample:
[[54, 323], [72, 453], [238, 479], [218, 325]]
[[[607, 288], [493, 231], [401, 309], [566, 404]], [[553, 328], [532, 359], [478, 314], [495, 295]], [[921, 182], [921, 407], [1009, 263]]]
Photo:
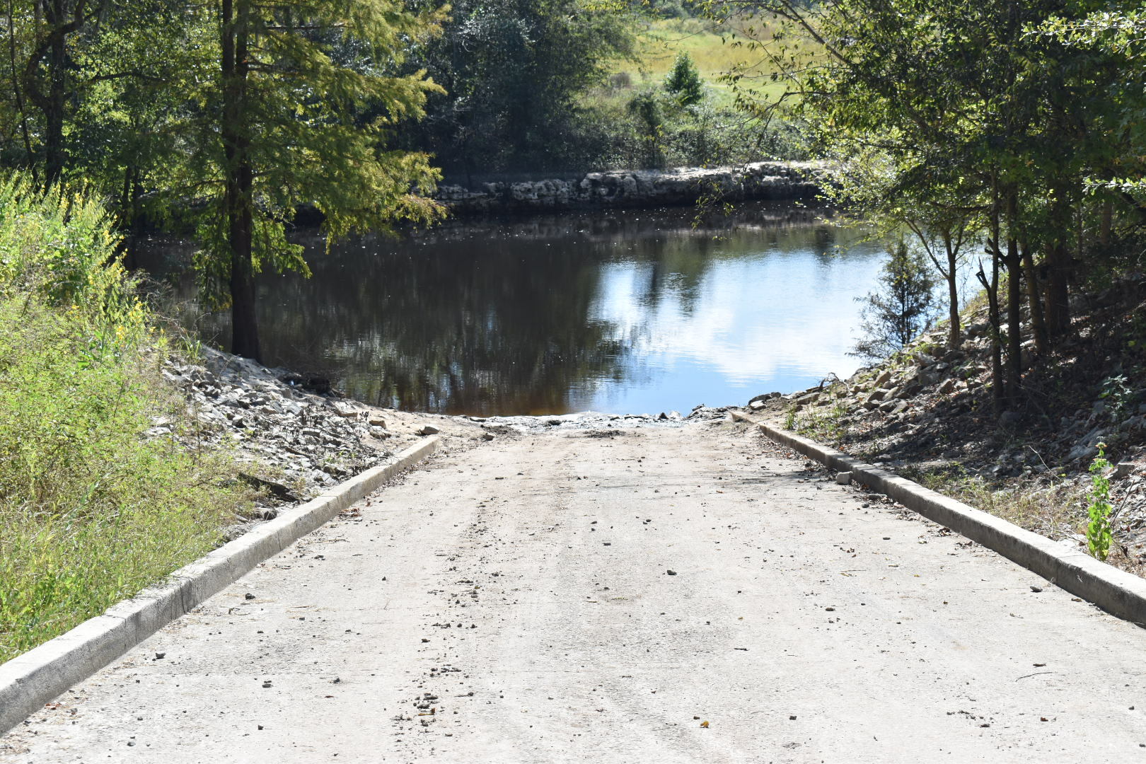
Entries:
[[256, 565], [286, 549], [440, 444], [427, 438], [325, 494], [283, 512], [250, 533], [175, 570], [168, 582], [144, 590], [71, 631], [0, 664], [0, 734], [53, 698], [86, 679], [158, 629], [183, 615]]

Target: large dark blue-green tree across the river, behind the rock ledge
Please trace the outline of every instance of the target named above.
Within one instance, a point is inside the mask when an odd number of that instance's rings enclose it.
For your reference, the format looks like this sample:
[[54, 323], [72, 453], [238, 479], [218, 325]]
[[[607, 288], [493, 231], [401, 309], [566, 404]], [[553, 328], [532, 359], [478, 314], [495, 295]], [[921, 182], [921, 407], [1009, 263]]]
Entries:
[[456, 0], [442, 36], [408, 62], [446, 93], [403, 145], [433, 151], [450, 172], [584, 163], [596, 147], [582, 96], [634, 55], [635, 19], [621, 0]]

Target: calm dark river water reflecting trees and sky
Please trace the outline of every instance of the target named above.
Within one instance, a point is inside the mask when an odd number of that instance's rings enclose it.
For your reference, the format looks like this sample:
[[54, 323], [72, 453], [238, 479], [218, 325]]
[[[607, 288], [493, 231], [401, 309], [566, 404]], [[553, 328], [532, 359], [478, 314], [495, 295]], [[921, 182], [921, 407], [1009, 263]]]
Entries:
[[[313, 277], [258, 281], [264, 361], [444, 413], [688, 412], [800, 389], [857, 368], [855, 298], [884, 260], [822, 214], [745, 205], [696, 228], [691, 210], [463, 220], [329, 253], [303, 234]], [[148, 265], [193, 298], [187, 252], [157, 244]], [[225, 315], [197, 324], [226, 348]]]

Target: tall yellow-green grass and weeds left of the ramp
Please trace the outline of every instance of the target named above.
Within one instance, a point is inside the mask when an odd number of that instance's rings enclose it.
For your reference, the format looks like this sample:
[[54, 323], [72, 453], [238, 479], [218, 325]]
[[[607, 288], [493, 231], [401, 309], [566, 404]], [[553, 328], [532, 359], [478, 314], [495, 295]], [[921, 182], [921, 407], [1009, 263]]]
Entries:
[[160, 365], [102, 206], [0, 181], [0, 661], [220, 541], [243, 496]]

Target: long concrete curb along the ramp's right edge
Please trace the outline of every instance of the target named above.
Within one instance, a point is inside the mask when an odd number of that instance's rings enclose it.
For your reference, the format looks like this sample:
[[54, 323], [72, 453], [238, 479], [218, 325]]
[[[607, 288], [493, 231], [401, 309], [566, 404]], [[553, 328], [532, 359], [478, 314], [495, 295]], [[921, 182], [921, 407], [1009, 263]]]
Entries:
[[752, 419], [744, 413], [733, 411], [732, 418], [756, 425], [777, 443], [817, 459], [833, 470], [850, 471], [855, 482], [886, 494], [928, 520], [934, 520], [995, 550], [1072, 594], [1098, 605], [1107, 613], [1138, 625], [1146, 625], [1146, 580], [1099, 562], [1084, 552], [1067, 549], [994, 514], [924, 488], [893, 472], [859, 462], [842, 451]]

